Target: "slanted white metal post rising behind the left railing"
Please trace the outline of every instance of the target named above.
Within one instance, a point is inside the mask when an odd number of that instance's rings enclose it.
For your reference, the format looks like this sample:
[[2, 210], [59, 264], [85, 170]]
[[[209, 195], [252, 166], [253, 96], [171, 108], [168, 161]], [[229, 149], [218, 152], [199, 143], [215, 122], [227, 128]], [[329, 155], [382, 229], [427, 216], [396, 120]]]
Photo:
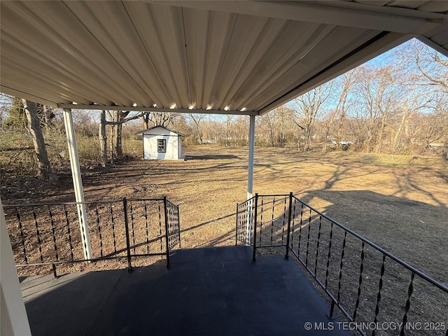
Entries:
[[83, 240], [84, 258], [92, 259], [89, 228], [85, 213], [83, 181], [81, 180], [81, 172], [79, 169], [78, 149], [76, 148], [75, 130], [73, 128], [71, 109], [64, 109], [63, 114], [67, 145], [69, 146], [71, 177], [73, 179], [73, 187], [75, 189], [75, 199], [77, 203], [76, 205], [78, 208], [79, 229], [81, 232], [81, 239]]

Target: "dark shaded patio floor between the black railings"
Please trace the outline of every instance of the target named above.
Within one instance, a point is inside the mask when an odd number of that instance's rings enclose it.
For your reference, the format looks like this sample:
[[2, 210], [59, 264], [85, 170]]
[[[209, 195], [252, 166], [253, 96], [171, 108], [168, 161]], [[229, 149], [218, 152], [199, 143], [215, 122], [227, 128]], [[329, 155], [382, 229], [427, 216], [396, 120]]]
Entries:
[[329, 307], [293, 260], [251, 262], [246, 246], [178, 250], [171, 260], [170, 270], [22, 279], [32, 334], [349, 335], [316, 330], [330, 322]]

